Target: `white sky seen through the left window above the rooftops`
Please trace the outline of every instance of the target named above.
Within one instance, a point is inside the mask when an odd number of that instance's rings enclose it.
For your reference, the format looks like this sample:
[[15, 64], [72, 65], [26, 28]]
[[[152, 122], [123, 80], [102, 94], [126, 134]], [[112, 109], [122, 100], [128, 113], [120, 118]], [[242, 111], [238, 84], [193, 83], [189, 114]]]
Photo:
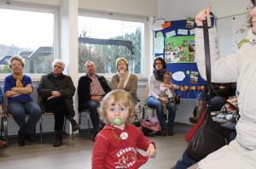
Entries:
[[0, 21], [0, 44], [33, 49], [53, 44], [53, 14], [0, 9]]

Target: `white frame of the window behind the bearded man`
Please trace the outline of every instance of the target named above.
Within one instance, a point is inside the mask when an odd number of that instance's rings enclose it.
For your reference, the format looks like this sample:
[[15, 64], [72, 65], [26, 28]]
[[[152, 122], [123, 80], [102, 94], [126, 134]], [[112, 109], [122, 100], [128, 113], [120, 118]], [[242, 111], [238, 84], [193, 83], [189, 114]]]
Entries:
[[[144, 30], [143, 30], [143, 46], [142, 46], [142, 54], [143, 54], [143, 73], [142, 74], [136, 74], [139, 80], [146, 80], [148, 79], [149, 76], [149, 70], [150, 67], [145, 66], [150, 63], [150, 59], [146, 59], [146, 56], [148, 58], [150, 56], [150, 50], [145, 50], [145, 48], [151, 48], [150, 46], [150, 36], [152, 35], [151, 27], [150, 25], [150, 20], [148, 20], [148, 17], [146, 16], [138, 16], [138, 15], [128, 15], [128, 14], [113, 14], [113, 13], [101, 13], [101, 12], [92, 12], [92, 11], [79, 11], [79, 16], [84, 16], [84, 17], [95, 17], [95, 18], [102, 18], [102, 19], [109, 19], [109, 20], [125, 20], [125, 21], [134, 21], [134, 22], [141, 22], [144, 24]], [[85, 62], [85, 61], [84, 61]], [[78, 70], [79, 73], [79, 70]], [[98, 75], [104, 76], [107, 79], [110, 79], [113, 74], [109, 73], [97, 73]], [[84, 73], [79, 73], [79, 76], [83, 76]]]

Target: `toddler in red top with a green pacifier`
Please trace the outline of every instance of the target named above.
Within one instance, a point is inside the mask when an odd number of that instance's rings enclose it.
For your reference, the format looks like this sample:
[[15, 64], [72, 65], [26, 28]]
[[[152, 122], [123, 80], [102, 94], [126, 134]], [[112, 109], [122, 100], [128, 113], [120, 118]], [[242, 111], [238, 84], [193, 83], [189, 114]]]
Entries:
[[[113, 90], [100, 104], [99, 114], [106, 126], [96, 136], [92, 169], [139, 168], [155, 157], [155, 145], [131, 125], [136, 114], [134, 99], [125, 90]], [[138, 149], [147, 151], [143, 156]]]

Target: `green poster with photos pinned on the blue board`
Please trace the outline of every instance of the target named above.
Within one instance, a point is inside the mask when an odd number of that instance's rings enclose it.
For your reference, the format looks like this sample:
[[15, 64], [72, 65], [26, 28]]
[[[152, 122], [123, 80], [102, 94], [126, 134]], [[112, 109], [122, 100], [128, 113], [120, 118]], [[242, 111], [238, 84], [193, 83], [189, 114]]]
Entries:
[[191, 63], [195, 60], [195, 36], [166, 37], [166, 63]]

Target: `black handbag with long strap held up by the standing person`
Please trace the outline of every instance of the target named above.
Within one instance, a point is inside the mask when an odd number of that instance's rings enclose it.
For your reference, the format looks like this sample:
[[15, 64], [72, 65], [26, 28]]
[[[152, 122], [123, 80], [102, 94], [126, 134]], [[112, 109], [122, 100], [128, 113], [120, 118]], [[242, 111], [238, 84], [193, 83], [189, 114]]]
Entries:
[[[205, 57], [206, 57], [206, 73], [207, 84], [209, 92], [211, 92], [211, 59], [210, 59], [210, 45], [207, 20], [203, 20], [204, 29], [204, 43], [205, 43]], [[211, 115], [211, 99], [208, 99], [207, 114], [204, 116], [203, 122], [200, 127], [195, 131], [195, 134], [189, 141], [188, 155], [192, 158], [201, 161], [213, 151], [223, 147], [227, 144], [224, 137], [224, 132], [229, 132], [229, 129], [221, 127], [217, 121], [212, 121]]]

